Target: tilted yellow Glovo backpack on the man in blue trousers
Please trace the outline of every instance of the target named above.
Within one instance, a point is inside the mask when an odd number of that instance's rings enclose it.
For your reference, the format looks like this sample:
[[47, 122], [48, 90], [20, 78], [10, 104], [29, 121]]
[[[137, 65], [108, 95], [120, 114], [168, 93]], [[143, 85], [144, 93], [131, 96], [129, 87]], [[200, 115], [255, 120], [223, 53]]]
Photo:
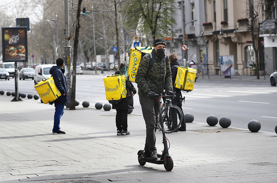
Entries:
[[38, 82], [38, 84], [35, 85], [35, 89], [44, 104], [53, 102], [62, 95], [56, 87], [53, 77]]

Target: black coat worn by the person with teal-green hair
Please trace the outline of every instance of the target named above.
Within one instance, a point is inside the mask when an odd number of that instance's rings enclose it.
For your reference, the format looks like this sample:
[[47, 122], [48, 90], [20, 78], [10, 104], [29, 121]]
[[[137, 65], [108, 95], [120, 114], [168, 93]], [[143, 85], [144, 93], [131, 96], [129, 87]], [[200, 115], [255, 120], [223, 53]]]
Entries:
[[[116, 74], [119, 74], [118, 71], [116, 71]], [[112, 104], [112, 109], [134, 109], [134, 99], [132, 97], [132, 94], [136, 94], [137, 90], [133, 86], [133, 84], [126, 79], [126, 91], [127, 95], [126, 98], [123, 98], [120, 100], [120, 102], [116, 104]]]

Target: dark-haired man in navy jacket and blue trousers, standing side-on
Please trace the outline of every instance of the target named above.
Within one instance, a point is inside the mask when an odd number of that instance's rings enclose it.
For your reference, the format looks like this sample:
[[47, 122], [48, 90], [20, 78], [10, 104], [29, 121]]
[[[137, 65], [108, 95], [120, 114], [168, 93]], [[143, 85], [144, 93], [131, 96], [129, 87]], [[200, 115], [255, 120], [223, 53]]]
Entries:
[[69, 103], [69, 96], [67, 92], [67, 87], [66, 87], [66, 77], [64, 76], [64, 59], [63, 58], [58, 58], [56, 60], [56, 66], [52, 66], [51, 69], [49, 70], [49, 73], [51, 76], [53, 76], [53, 79], [55, 81], [56, 87], [59, 89], [61, 92], [61, 96], [54, 101], [55, 104], [55, 114], [54, 114], [54, 126], [52, 133], [53, 134], [65, 134], [64, 131], [60, 130], [60, 120], [61, 117], [63, 116], [64, 112], [64, 104]]

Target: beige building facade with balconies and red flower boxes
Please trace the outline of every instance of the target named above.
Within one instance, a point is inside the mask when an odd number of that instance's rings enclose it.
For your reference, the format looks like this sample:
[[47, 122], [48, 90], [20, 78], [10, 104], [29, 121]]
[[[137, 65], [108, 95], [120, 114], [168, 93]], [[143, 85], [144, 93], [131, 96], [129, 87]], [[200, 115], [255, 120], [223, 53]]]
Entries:
[[[222, 74], [225, 61], [221, 56], [233, 56], [231, 67], [234, 75], [255, 74], [251, 72], [255, 69], [256, 59], [249, 29], [249, 3], [253, 1], [256, 0], [205, 0], [203, 35], [207, 42], [210, 74]], [[257, 34], [256, 19], [253, 25]]]

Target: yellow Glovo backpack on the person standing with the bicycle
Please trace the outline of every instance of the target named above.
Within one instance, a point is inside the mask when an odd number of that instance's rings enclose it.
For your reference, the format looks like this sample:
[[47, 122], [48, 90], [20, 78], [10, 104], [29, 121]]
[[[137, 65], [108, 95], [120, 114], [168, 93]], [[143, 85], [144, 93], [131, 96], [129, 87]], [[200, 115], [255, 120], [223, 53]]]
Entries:
[[196, 77], [196, 69], [190, 67], [177, 67], [174, 87], [183, 91], [192, 91]]

